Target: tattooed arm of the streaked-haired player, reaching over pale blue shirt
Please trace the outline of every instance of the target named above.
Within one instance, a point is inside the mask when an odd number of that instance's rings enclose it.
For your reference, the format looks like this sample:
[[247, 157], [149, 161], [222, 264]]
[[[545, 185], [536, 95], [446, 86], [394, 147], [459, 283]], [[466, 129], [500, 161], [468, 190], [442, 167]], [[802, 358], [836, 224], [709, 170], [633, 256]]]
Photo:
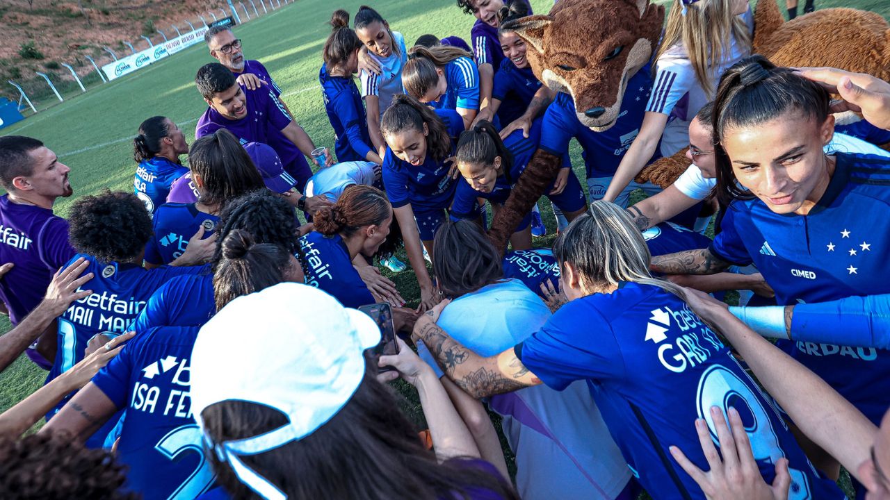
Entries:
[[513, 348], [497, 356], [482, 358], [449, 337], [429, 315], [417, 319], [412, 336], [424, 341], [445, 374], [473, 398], [517, 391], [541, 383], [522, 365]]

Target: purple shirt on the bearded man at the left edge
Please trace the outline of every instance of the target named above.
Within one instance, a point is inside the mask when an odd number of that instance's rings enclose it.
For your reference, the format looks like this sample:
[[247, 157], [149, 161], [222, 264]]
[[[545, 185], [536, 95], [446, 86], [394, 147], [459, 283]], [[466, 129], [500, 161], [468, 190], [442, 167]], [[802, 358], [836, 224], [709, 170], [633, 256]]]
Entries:
[[33, 310], [53, 274], [75, 254], [68, 242], [68, 221], [39, 206], [0, 197], [0, 263], [13, 267], [0, 279], [0, 300], [12, 325]]

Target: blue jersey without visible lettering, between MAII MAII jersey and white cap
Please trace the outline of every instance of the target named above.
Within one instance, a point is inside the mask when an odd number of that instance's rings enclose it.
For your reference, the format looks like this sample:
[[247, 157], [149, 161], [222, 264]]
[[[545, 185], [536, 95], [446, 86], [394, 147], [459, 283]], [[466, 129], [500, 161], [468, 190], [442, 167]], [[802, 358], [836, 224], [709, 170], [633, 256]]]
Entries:
[[151, 327], [200, 327], [216, 312], [214, 276], [200, 274], [170, 278], [149, 297], [128, 331], [141, 334]]

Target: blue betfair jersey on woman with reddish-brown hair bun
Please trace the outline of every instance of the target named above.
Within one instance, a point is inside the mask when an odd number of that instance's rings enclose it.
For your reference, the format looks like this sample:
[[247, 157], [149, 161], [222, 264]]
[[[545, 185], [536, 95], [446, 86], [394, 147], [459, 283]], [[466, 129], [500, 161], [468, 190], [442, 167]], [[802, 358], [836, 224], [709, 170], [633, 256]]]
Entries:
[[349, 249], [340, 235], [325, 236], [312, 231], [300, 238], [300, 248], [306, 285], [328, 292], [346, 307], [376, 302], [359, 271], [352, 267]]

